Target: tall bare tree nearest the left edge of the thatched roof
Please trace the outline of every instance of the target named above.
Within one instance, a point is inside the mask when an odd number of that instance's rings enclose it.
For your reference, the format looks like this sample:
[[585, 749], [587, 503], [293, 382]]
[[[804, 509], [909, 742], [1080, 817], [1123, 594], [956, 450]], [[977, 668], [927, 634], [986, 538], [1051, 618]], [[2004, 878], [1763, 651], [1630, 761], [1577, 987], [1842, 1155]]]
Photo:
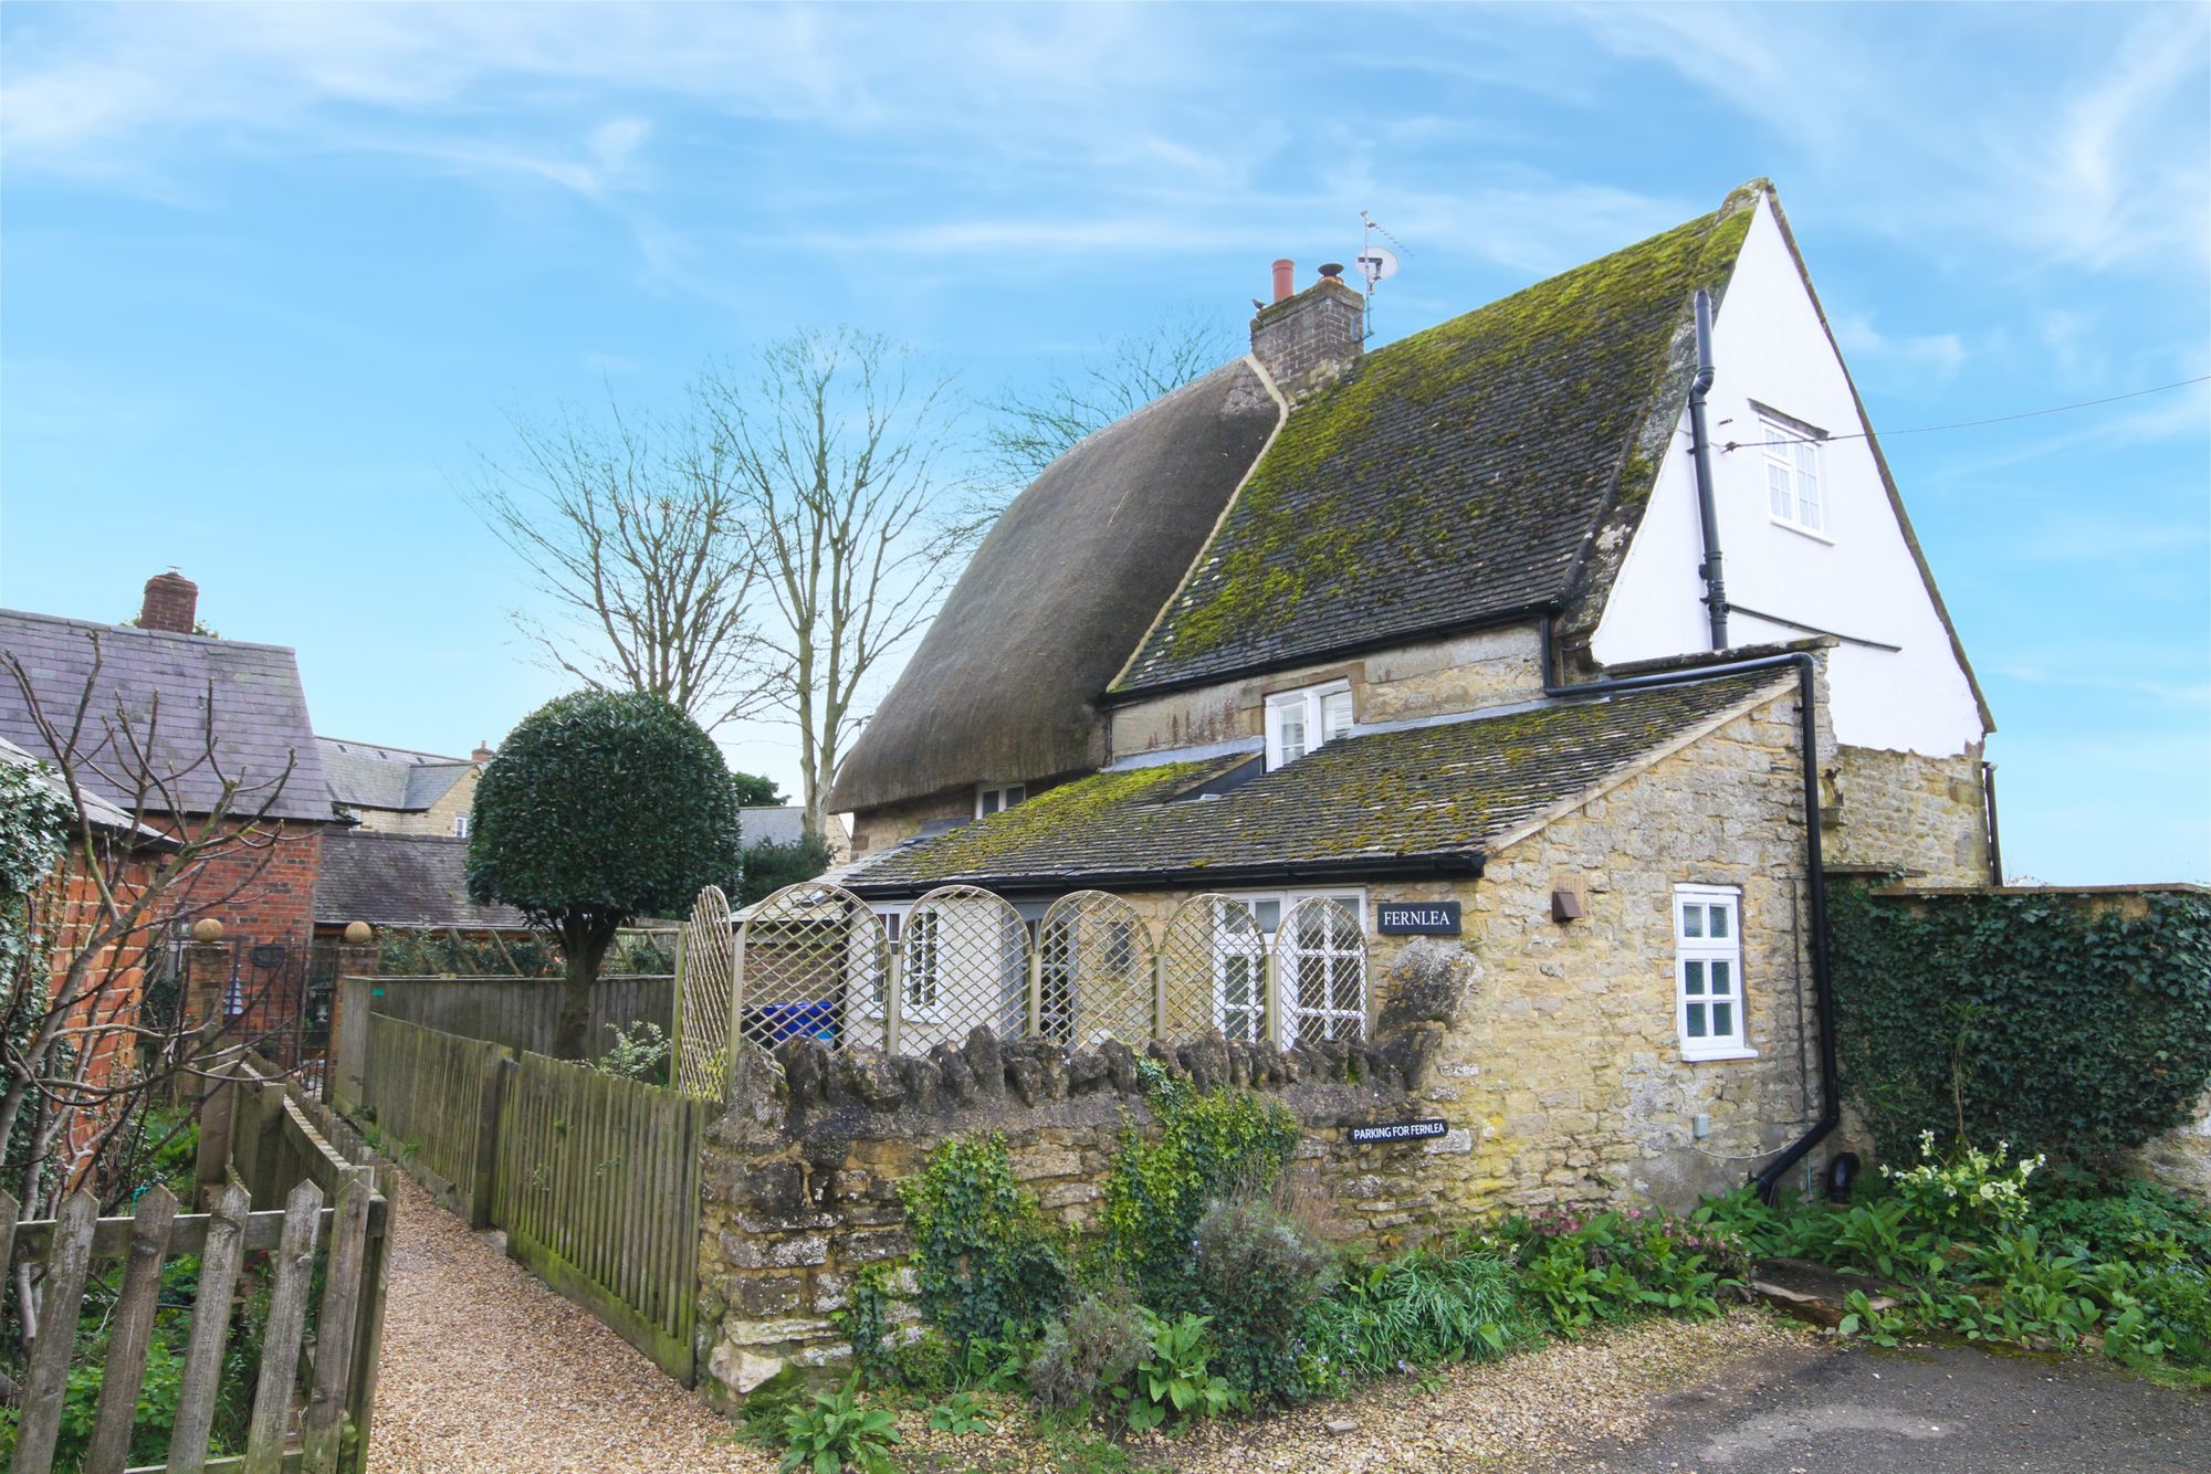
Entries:
[[957, 526], [937, 475], [949, 385], [915, 380], [887, 338], [800, 331], [696, 385], [708, 444], [701, 480], [727, 477], [745, 506], [772, 698], [798, 727], [805, 827], [822, 833], [838, 762], [878, 667], [935, 608]]

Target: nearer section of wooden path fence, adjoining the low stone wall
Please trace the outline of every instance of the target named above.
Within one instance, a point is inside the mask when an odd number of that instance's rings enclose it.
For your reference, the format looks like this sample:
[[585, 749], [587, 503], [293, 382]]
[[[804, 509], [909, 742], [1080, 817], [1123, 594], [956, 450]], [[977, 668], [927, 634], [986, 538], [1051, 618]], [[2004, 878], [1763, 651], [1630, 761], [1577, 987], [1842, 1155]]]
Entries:
[[688, 1096], [524, 1054], [493, 1193], [511, 1255], [685, 1383], [703, 1134], [705, 1107]]

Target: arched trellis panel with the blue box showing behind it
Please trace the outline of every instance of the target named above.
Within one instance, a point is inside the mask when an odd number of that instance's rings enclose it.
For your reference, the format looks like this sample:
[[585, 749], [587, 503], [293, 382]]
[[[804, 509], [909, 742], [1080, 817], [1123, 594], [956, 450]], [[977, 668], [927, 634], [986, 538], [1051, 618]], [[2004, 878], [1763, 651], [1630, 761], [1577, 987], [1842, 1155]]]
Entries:
[[891, 944], [867, 902], [818, 880], [783, 886], [736, 933], [732, 1034], [763, 1047], [800, 1036], [880, 1045], [889, 972]]

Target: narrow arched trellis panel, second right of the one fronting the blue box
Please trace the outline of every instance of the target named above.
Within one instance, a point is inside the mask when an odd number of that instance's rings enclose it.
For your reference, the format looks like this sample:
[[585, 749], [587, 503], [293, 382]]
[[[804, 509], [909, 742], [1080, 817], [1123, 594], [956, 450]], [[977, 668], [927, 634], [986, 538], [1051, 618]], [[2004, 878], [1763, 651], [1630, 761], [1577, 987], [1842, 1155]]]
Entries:
[[1152, 937], [1136, 908], [1103, 891], [1063, 895], [1037, 922], [1035, 1032], [1143, 1047], [1159, 1017]]

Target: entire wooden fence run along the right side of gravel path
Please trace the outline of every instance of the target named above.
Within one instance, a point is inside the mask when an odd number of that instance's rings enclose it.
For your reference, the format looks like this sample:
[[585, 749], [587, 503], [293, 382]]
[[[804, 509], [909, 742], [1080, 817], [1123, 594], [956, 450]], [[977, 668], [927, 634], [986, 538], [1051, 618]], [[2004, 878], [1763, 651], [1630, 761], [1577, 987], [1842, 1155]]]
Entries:
[[699, 1147], [672, 1089], [369, 1017], [358, 1101], [383, 1149], [685, 1386], [696, 1381]]

